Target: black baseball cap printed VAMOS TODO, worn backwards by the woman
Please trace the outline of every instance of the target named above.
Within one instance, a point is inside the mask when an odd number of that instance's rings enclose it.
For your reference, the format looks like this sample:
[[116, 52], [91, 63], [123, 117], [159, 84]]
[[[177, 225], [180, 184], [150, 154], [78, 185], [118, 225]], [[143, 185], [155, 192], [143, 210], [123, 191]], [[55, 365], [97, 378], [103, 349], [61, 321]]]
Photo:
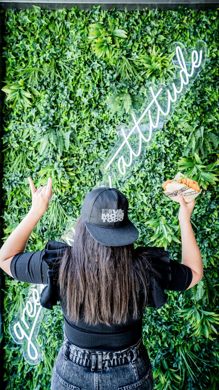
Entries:
[[138, 238], [138, 230], [128, 219], [128, 200], [116, 188], [98, 187], [87, 193], [81, 218], [91, 236], [107, 246], [122, 246]]

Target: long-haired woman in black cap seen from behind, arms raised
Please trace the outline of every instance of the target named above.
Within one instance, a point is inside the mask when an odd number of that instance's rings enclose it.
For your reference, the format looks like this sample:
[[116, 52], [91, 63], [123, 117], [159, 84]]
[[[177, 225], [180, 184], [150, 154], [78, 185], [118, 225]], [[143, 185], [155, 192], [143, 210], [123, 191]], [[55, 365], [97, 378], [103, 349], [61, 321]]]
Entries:
[[30, 234], [49, 207], [52, 180], [32, 191], [29, 213], [0, 249], [0, 265], [17, 280], [47, 284], [40, 303], [60, 301], [65, 335], [54, 362], [51, 389], [151, 390], [152, 367], [142, 342], [145, 306], [165, 305], [164, 289], [184, 291], [203, 276], [190, 223], [194, 201], [178, 195], [182, 264], [164, 248], [138, 247], [128, 200], [114, 188], [90, 191], [75, 227], [74, 245], [48, 241], [25, 252]]

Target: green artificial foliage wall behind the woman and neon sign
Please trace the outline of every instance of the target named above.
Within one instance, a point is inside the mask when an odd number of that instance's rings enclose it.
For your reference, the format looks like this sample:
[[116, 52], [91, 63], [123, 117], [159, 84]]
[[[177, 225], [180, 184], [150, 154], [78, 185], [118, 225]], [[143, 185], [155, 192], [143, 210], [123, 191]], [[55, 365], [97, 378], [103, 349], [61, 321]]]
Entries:
[[[142, 333], [155, 389], [218, 389], [218, 11], [103, 11], [100, 6], [50, 11], [33, 5], [1, 12], [6, 26], [4, 240], [30, 209], [27, 176], [37, 187], [53, 178], [53, 199], [30, 236], [28, 252], [43, 249], [48, 239], [61, 241], [69, 219], [80, 215], [82, 200], [101, 180], [100, 166], [117, 141], [116, 126], [145, 102], [147, 82], [172, 77], [171, 44], [180, 41], [190, 49], [200, 39], [206, 42], [203, 71], [172, 118], [143, 145], [142, 159], [120, 189], [140, 232], [136, 244], [165, 246], [180, 262], [179, 205], [165, 197], [162, 183], [180, 170], [202, 188], [191, 223], [204, 276], [183, 293], [167, 291], [168, 301], [159, 310], [146, 308]], [[46, 310], [40, 327], [42, 361], [30, 365], [24, 359], [9, 323], [23, 309], [28, 286], [5, 275], [7, 390], [49, 389], [63, 340], [58, 304]]]

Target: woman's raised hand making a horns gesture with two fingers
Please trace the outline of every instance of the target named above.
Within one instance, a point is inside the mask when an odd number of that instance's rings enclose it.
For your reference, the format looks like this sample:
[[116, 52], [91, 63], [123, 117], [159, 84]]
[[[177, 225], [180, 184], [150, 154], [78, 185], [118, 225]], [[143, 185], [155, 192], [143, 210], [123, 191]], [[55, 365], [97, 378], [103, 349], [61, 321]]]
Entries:
[[31, 209], [41, 217], [49, 207], [50, 200], [53, 196], [53, 181], [51, 177], [49, 177], [48, 184], [44, 187], [41, 186], [40, 188], [38, 188], [38, 190], [36, 190], [31, 177], [28, 177], [28, 181], [30, 183], [30, 190], [32, 193]]

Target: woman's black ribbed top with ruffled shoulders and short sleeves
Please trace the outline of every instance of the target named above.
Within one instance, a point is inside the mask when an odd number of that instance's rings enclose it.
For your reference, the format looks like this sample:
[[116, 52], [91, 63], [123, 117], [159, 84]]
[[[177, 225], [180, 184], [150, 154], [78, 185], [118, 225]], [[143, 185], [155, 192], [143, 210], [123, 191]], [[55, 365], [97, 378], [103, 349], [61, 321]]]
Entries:
[[[57, 286], [59, 260], [64, 255], [68, 244], [47, 241], [43, 250], [17, 254], [11, 261], [11, 273], [16, 280], [28, 283], [46, 284], [40, 304], [49, 310], [60, 300], [65, 320], [67, 339], [81, 348], [95, 351], [117, 351], [128, 348], [138, 342], [142, 336], [142, 317], [139, 320], [129, 318], [125, 324], [88, 325], [81, 318], [79, 323], [72, 323], [67, 316], [67, 308], [61, 300]], [[192, 271], [184, 264], [171, 260], [169, 252], [162, 248], [138, 247], [144, 252], [151, 264], [149, 271], [150, 291], [148, 306], [160, 308], [165, 305], [168, 295], [165, 289], [184, 291], [191, 284]]]

